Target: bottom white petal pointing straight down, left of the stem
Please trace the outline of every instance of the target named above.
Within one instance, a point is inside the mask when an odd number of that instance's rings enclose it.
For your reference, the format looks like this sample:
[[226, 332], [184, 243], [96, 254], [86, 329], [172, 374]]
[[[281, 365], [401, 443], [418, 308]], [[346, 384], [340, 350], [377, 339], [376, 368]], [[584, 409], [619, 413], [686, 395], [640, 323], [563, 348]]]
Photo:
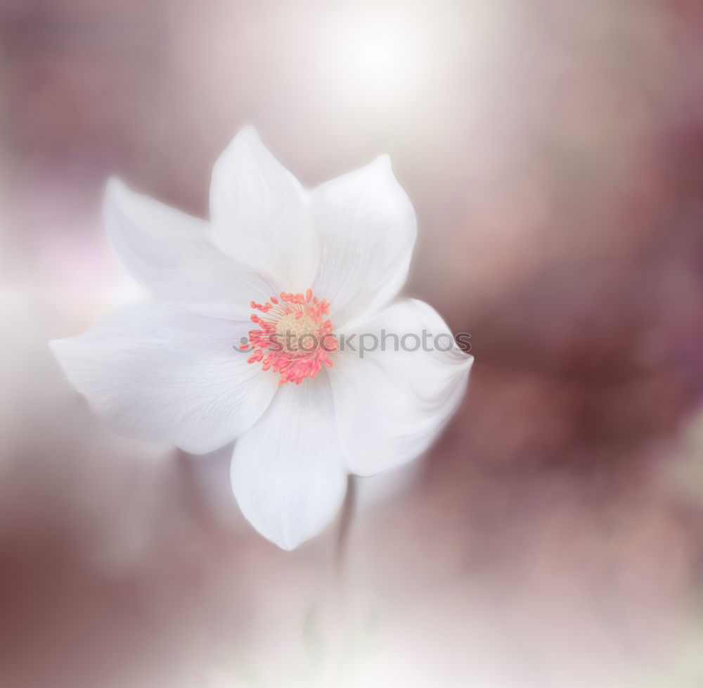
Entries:
[[280, 386], [262, 419], [237, 440], [231, 482], [247, 520], [283, 549], [333, 520], [347, 478], [323, 374]]

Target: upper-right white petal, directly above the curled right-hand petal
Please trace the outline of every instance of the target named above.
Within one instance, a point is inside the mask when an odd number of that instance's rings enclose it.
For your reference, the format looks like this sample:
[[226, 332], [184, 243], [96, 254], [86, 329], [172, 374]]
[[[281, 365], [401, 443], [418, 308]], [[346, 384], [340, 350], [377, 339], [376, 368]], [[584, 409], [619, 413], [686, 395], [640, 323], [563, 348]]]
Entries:
[[311, 198], [321, 264], [313, 291], [339, 328], [368, 317], [403, 286], [415, 244], [415, 212], [387, 155], [318, 186]]

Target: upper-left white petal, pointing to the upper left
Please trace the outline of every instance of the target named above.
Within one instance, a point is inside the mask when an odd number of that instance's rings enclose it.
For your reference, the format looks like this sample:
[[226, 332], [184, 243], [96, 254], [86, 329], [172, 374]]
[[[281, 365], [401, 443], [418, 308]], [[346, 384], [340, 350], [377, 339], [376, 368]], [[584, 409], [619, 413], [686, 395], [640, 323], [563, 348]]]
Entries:
[[110, 242], [131, 274], [155, 296], [210, 317], [246, 320], [250, 302], [275, 289], [221, 253], [209, 224], [111, 179], [105, 194]]

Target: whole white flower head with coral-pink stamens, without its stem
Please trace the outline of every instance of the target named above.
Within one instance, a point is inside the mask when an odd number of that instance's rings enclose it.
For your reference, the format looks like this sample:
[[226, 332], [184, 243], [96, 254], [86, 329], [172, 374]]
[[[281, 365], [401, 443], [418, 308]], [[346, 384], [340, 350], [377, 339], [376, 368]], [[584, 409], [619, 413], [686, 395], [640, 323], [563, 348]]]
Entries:
[[[427, 304], [393, 301], [415, 214], [387, 156], [306, 191], [247, 128], [214, 167], [210, 208], [207, 223], [110, 181], [110, 240], [154, 300], [51, 347], [120, 433], [194, 454], [236, 438], [243, 514], [292, 549], [333, 519], [347, 473], [391, 469], [430, 445], [472, 357], [339, 346], [342, 333], [448, 332]], [[311, 352], [267, 349], [284, 330], [334, 336]]]

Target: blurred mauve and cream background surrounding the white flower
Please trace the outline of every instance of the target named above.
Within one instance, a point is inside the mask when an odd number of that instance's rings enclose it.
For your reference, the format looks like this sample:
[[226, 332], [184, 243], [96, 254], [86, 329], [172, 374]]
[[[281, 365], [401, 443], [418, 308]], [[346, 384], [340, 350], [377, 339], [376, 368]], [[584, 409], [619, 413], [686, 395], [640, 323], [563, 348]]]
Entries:
[[[105, 179], [205, 216], [245, 124], [308, 186], [391, 155], [476, 357], [359, 487], [334, 679], [333, 528], [279, 551], [46, 348], [140, 296]], [[0, 685], [699, 688], [702, 303], [698, 0], [0, 0]]]

